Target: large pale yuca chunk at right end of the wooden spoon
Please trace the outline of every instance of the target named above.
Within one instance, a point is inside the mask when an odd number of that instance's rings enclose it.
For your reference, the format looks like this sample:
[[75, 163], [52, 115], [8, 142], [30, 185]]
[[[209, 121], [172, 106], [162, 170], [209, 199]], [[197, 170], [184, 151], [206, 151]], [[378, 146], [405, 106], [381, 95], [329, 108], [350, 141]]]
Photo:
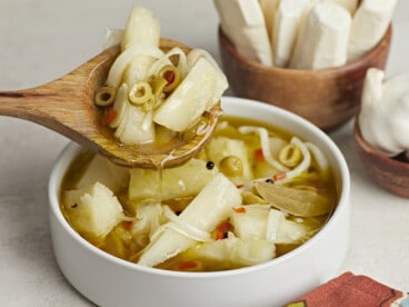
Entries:
[[170, 130], [184, 131], [220, 99], [228, 82], [219, 68], [200, 57], [178, 88], [154, 111], [153, 121]]

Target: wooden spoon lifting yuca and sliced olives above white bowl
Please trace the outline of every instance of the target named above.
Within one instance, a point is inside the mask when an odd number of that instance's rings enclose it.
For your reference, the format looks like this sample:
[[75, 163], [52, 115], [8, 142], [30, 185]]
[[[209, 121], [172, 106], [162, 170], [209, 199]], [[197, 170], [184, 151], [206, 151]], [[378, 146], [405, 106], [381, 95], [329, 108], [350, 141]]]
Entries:
[[[161, 49], [189, 48], [161, 39]], [[42, 125], [87, 149], [98, 152], [117, 165], [126, 167], [173, 167], [194, 156], [211, 136], [221, 115], [220, 105], [206, 115], [207, 127], [201, 135], [187, 141], [162, 145], [124, 146], [109, 127], [100, 123], [94, 93], [108, 76], [119, 55], [119, 47], [111, 47], [69, 75], [49, 83], [24, 90], [0, 91], [0, 115], [11, 116]]]

